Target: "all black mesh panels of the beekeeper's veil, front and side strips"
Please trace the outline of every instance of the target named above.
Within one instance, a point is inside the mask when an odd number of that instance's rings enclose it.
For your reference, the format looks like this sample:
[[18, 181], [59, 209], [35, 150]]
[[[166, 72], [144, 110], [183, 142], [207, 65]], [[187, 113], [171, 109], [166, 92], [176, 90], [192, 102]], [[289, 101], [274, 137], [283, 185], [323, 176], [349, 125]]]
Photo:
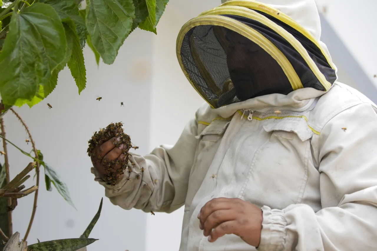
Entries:
[[[248, 25], [271, 41], [287, 57], [303, 87], [325, 90], [285, 38], [250, 18], [223, 16]], [[289, 26], [285, 26], [288, 30]], [[291, 30], [289, 32], [294, 33]], [[326, 80], [333, 84], [335, 70], [331, 69], [319, 48], [299, 32], [295, 34]], [[190, 29], [182, 41], [181, 60], [195, 89], [215, 108], [256, 96], [286, 95], [293, 91], [286, 74], [268, 52], [243, 35], [221, 26], [200, 25]]]

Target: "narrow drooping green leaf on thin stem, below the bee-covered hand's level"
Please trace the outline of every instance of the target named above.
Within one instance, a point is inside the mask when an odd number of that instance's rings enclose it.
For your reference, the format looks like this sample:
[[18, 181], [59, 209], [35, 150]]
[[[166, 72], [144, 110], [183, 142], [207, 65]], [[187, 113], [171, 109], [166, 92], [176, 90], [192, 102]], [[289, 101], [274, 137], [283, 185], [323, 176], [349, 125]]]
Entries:
[[[46, 164], [46, 162], [43, 161], [43, 154], [41, 153], [41, 151], [37, 150], [37, 153], [38, 153], [38, 161], [44, 167], [44, 175], [47, 175], [49, 177], [52, 184], [54, 184], [56, 190], [58, 190], [61, 196], [63, 196], [63, 198], [68, 202], [68, 204], [76, 209], [69, 195], [67, 185], [61, 180], [61, 177], [59, 176], [57, 171], [55, 171], [54, 168], [50, 167], [48, 164]], [[47, 184], [46, 184], [46, 188], [47, 188]]]

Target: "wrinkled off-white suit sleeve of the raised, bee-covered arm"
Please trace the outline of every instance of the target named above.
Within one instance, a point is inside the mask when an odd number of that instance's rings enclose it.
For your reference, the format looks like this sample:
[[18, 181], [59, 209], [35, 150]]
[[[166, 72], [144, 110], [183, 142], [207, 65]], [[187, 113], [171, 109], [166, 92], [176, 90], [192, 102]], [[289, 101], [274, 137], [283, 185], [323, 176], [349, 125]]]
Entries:
[[[198, 139], [196, 119], [184, 128], [174, 146], [161, 145], [148, 155], [132, 154], [132, 172], [115, 186], [102, 181], [92, 167], [95, 181], [105, 187], [105, 195], [114, 205], [130, 210], [170, 213], [184, 205], [190, 170], [193, 165]], [[131, 164], [129, 164], [130, 166]]]

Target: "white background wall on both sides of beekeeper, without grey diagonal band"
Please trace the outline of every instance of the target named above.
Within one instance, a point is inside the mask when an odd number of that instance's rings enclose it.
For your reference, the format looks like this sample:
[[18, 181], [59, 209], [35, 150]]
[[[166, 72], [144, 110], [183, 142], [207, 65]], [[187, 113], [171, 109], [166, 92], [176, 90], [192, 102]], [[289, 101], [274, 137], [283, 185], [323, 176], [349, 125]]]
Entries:
[[[181, 72], [175, 42], [181, 26], [200, 12], [216, 7], [220, 0], [170, 0], [157, 27], [158, 35], [136, 30], [125, 41], [113, 65], [98, 68], [89, 48], [84, 49], [87, 88], [78, 95], [68, 69], [59, 75], [54, 92], [31, 110], [16, 109], [29, 126], [44, 160], [66, 182], [77, 211], [54, 188], [44, 187], [43, 168], [38, 209], [28, 242], [79, 237], [98, 209], [104, 188], [93, 181], [87, 140], [110, 122], [123, 121], [125, 132], [145, 154], [160, 144], [174, 144], [185, 123], [195, 116], [203, 102]], [[375, 23], [377, 2], [359, 0], [317, 0], [327, 6], [326, 17], [376, 82], [377, 49]], [[335, 59], [336, 61], [336, 59]], [[342, 69], [339, 70], [342, 74]], [[340, 75], [340, 80], [347, 82]], [[102, 96], [98, 102], [95, 99]], [[124, 102], [124, 107], [120, 106]], [[49, 110], [47, 103], [52, 105]], [[5, 116], [9, 140], [28, 152], [26, 132], [12, 114]], [[29, 162], [8, 144], [11, 178]], [[3, 159], [0, 159], [3, 163]], [[26, 186], [34, 182], [29, 179]], [[14, 231], [25, 234], [34, 196], [18, 200], [14, 210]], [[173, 251], [178, 250], [183, 208], [155, 216], [138, 210], [124, 211], [104, 197], [102, 214], [90, 237], [100, 239], [89, 251]]]

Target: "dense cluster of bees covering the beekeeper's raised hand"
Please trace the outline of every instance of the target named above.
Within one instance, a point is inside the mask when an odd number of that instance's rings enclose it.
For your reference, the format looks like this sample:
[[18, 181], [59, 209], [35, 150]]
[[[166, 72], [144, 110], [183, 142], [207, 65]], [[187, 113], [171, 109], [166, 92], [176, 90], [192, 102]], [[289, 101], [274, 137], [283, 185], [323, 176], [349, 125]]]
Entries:
[[[122, 160], [116, 159], [113, 161], [108, 161], [107, 159], [102, 159], [101, 156], [96, 156], [96, 153], [93, 151], [95, 147], [102, 144], [103, 142], [108, 141], [109, 139], [115, 137], [113, 144], [115, 147], [122, 146], [122, 155], [124, 156]], [[106, 171], [106, 176], [103, 178], [103, 181], [109, 185], [115, 185], [118, 182], [119, 177], [124, 174], [124, 171], [127, 169], [129, 173], [132, 171], [131, 165], [128, 163], [130, 161], [130, 148], [137, 149], [138, 147], [132, 146], [131, 138], [129, 135], [123, 132], [123, 124], [121, 122], [111, 123], [106, 128], [101, 129], [99, 132], [95, 132], [92, 138], [88, 141], [89, 147], [87, 149], [88, 156], [92, 159], [95, 159], [96, 162], [103, 164], [104, 170]], [[120, 165], [121, 168], [117, 169], [114, 172], [114, 166]], [[132, 163], [132, 165], [135, 165]]]

